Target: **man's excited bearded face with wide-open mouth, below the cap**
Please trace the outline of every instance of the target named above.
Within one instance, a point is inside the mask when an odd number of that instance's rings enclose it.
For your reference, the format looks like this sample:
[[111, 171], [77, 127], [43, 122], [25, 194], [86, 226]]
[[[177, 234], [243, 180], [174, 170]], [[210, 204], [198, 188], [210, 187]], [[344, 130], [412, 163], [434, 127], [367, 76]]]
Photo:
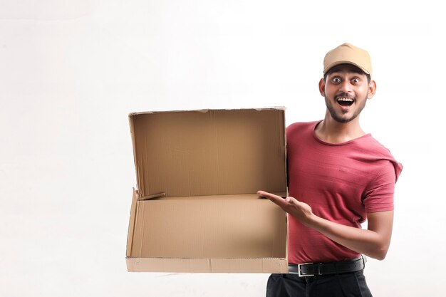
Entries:
[[348, 123], [356, 119], [367, 99], [375, 95], [375, 82], [368, 83], [367, 75], [356, 66], [342, 64], [333, 67], [319, 83], [327, 110], [333, 120]]

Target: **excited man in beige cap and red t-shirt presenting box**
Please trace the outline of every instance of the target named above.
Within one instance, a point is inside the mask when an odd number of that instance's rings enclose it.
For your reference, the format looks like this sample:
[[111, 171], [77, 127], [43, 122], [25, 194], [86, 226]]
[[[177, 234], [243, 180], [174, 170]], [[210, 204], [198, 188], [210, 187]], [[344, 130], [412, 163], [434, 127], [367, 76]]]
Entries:
[[268, 297], [371, 296], [363, 255], [382, 260], [390, 245], [403, 167], [359, 125], [376, 90], [370, 56], [343, 43], [323, 66], [325, 118], [286, 129], [289, 197], [258, 192], [289, 214], [289, 273], [269, 277]]

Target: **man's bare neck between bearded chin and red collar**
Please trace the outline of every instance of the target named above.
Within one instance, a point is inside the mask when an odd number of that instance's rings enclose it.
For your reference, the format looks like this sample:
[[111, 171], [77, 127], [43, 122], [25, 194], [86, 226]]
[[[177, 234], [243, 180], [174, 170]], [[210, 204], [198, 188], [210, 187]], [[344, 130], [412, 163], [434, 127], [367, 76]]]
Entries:
[[343, 143], [365, 135], [359, 125], [359, 116], [348, 123], [339, 123], [330, 113], [316, 127], [316, 136], [328, 143]]

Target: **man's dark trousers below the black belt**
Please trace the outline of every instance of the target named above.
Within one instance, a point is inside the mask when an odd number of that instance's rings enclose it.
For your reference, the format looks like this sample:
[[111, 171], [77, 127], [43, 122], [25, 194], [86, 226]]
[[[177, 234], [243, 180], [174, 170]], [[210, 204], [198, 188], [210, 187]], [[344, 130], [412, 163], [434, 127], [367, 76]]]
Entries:
[[266, 285], [266, 297], [372, 297], [363, 271], [299, 277], [274, 273]]

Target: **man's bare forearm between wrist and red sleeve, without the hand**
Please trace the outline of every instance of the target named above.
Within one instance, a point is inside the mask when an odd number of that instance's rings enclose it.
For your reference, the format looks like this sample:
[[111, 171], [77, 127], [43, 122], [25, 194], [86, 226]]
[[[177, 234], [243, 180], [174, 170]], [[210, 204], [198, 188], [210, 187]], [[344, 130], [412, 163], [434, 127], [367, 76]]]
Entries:
[[316, 229], [329, 239], [336, 241], [342, 246], [346, 246], [352, 251], [382, 260], [385, 258], [390, 245], [393, 214], [392, 216], [387, 214], [379, 215], [382, 217], [381, 220], [385, 219], [388, 221], [386, 226], [390, 226], [390, 229], [379, 228], [379, 225], [376, 226], [374, 221], [372, 229], [358, 229], [352, 226], [330, 222], [314, 214], [308, 219], [306, 225]]

